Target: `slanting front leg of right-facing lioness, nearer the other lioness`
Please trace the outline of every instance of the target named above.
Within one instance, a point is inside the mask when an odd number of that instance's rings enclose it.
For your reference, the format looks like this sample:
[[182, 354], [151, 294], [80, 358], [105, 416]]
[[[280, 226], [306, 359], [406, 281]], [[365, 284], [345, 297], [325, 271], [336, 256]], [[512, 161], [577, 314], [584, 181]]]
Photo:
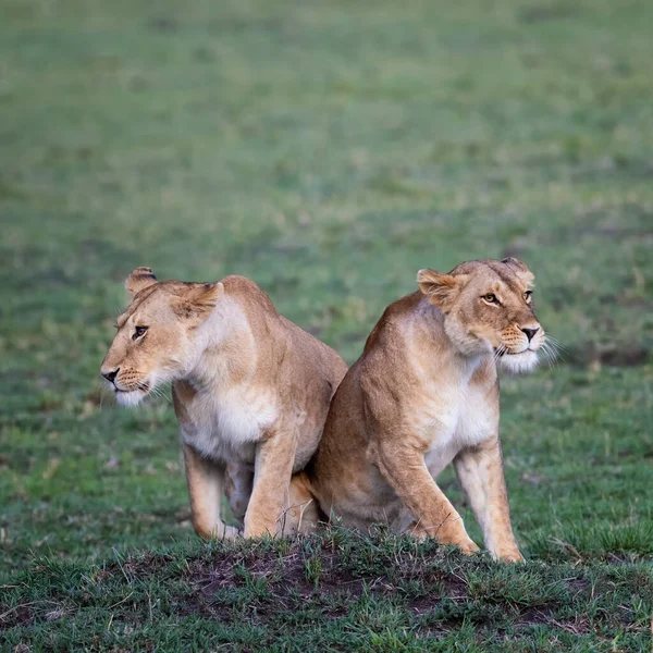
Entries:
[[415, 517], [409, 532], [454, 544], [467, 554], [479, 550], [467, 534], [463, 518], [430, 475], [422, 452], [408, 444], [399, 445], [395, 440], [379, 447], [378, 465]]

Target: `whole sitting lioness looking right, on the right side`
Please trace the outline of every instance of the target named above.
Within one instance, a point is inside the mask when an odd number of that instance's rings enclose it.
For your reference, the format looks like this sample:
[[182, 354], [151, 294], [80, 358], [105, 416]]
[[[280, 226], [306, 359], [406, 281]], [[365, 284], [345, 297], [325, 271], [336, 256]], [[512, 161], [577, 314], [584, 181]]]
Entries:
[[525, 263], [479, 260], [420, 270], [419, 292], [392, 304], [341, 383], [303, 473], [326, 515], [432, 535], [478, 551], [435, 478], [454, 461], [491, 554], [521, 560], [498, 442], [496, 364], [538, 361], [544, 331]]

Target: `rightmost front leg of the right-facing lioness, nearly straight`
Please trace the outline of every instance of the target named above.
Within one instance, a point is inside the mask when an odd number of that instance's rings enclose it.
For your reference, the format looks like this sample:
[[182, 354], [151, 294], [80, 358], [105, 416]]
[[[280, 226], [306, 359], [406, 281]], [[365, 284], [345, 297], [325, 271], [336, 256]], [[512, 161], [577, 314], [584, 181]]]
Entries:
[[498, 438], [491, 438], [478, 446], [461, 451], [454, 465], [476, 518], [483, 529], [485, 547], [492, 557], [505, 562], [522, 562], [510, 526]]

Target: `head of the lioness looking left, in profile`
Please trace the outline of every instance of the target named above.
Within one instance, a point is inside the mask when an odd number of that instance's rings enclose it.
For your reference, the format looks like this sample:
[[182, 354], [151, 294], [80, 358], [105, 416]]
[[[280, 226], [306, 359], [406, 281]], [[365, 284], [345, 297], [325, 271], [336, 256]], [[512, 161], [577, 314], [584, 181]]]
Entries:
[[221, 283], [158, 282], [149, 268], [126, 280], [132, 301], [100, 372], [119, 403], [135, 406], [157, 385], [178, 379], [197, 362], [194, 332], [224, 293]]

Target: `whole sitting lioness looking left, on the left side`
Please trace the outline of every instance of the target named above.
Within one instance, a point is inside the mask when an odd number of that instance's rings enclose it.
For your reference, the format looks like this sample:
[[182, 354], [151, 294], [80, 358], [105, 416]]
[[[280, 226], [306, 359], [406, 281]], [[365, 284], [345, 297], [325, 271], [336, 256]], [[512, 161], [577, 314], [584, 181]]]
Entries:
[[196, 532], [237, 534], [220, 516], [225, 489], [245, 537], [296, 530], [291, 475], [316, 449], [342, 358], [243, 276], [158, 282], [137, 268], [126, 287], [132, 303], [101, 373], [125, 406], [172, 381]]

